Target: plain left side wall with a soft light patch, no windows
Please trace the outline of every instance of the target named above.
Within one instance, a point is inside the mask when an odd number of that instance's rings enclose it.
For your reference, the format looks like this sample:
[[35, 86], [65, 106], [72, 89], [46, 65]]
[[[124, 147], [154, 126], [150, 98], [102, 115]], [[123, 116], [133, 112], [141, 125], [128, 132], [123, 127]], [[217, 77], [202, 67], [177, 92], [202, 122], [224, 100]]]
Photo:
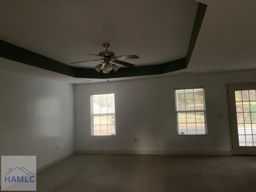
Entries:
[[42, 166], [71, 152], [73, 85], [0, 70], [0, 155], [36, 155]]

